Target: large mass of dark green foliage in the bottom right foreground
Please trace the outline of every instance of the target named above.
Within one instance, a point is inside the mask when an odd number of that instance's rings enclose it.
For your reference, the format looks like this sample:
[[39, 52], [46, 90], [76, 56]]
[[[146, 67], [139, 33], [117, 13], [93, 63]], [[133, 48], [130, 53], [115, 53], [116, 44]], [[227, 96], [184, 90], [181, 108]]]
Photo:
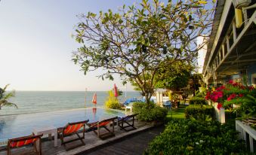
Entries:
[[230, 124], [217, 121], [171, 120], [144, 154], [240, 154], [245, 144]]

